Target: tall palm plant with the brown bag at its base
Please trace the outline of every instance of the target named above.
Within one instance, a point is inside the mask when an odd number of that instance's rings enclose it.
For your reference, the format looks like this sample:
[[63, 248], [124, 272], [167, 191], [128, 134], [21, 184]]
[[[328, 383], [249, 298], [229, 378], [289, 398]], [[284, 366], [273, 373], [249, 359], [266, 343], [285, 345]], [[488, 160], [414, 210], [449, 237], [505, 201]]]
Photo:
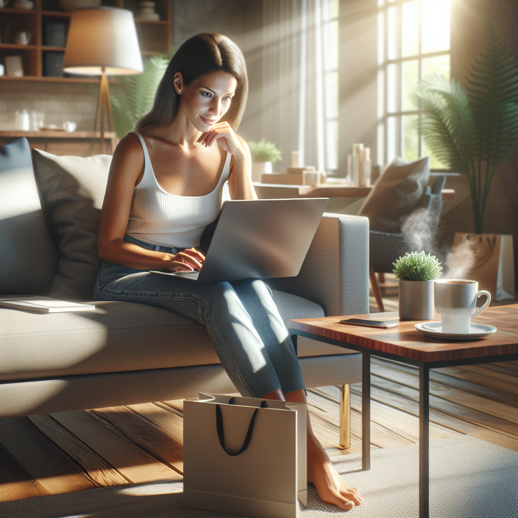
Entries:
[[487, 42], [464, 89], [458, 81], [428, 76], [411, 93], [421, 110], [418, 128], [429, 149], [450, 169], [467, 176], [476, 234], [455, 235], [471, 249], [469, 278], [496, 300], [514, 298], [511, 235], [482, 234], [491, 182], [498, 164], [518, 142], [518, 59], [486, 20]]

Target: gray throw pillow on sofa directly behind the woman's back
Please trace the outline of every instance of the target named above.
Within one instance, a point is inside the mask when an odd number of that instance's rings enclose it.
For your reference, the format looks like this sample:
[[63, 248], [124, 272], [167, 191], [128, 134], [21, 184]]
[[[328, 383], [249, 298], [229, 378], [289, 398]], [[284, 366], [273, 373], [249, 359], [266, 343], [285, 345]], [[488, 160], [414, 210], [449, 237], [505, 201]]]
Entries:
[[60, 254], [49, 297], [91, 300], [102, 263], [97, 232], [111, 156], [56, 156], [35, 149], [33, 157]]

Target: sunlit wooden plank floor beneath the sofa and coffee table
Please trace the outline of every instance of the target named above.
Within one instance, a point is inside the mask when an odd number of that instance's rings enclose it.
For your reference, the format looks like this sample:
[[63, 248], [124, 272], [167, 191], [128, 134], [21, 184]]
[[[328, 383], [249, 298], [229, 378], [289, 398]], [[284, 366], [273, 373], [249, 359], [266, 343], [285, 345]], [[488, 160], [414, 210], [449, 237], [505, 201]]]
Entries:
[[[418, 442], [418, 372], [372, 358], [371, 448]], [[309, 392], [330, 455], [361, 451], [362, 386], [352, 385], [349, 450], [339, 446], [337, 386]], [[182, 401], [0, 419], [0, 501], [180, 479]], [[430, 372], [430, 438], [472, 435], [518, 451], [518, 362]]]

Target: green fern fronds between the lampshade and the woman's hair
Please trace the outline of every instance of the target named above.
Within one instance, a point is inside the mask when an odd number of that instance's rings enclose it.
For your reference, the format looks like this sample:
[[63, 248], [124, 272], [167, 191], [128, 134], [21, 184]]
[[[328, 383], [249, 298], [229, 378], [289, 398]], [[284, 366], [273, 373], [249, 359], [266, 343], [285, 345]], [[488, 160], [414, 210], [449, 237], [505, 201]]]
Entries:
[[170, 57], [164, 54], [144, 60], [142, 74], [119, 76], [113, 89], [111, 106], [113, 123], [119, 138], [133, 130], [137, 121], [153, 106], [156, 89], [169, 65]]

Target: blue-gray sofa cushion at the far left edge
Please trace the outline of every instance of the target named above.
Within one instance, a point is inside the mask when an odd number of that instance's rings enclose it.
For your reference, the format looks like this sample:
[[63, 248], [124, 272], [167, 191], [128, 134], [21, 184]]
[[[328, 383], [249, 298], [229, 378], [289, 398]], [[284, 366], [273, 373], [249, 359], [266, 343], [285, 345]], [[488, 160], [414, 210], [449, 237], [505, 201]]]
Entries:
[[0, 294], [47, 295], [57, 252], [41, 210], [26, 138], [0, 147], [0, 236]]

